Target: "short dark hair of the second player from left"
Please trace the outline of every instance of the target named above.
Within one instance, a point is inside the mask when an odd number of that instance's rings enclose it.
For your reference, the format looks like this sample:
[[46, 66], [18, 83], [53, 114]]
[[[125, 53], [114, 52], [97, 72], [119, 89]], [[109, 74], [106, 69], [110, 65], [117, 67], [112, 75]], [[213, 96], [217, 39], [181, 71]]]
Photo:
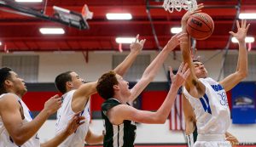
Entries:
[[56, 76], [56, 78], [55, 78], [55, 87], [61, 93], [67, 92], [66, 82], [72, 82], [72, 77], [70, 75], [71, 72], [73, 72], [73, 71], [63, 72], [60, 75]]

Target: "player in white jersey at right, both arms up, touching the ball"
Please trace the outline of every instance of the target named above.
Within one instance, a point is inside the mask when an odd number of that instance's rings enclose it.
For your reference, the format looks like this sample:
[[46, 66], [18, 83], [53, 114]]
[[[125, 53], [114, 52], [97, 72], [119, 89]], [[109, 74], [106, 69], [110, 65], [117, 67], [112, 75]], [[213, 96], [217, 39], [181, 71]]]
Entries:
[[[202, 7], [201, 5], [195, 12], [200, 12]], [[189, 16], [195, 12], [187, 12], [183, 15], [183, 32], [186, 32]], [[189, 120], [186, 123], [187, 127], [190, 127], [190, 131], [193, 130], [191, 127], [195, 127], [196, 122], [198, 131], [194, 147], [231, 146], [230, 142], [237, 143], [236, 138], [232, 138], [233, 136], [226, 132], [230, 127], [230, 110], [225, 91], [234, 88], [237, 83], [247, 76], [245, 37], [247, 36], [249, 25], [247, 25], [246, 20], [241, 20], [241, 26], [236, 21], [236, 25], [238, 31], [236, 33], [230, 31], [230, 34], [236, 37], [239, 42], [237, 69], [235, 73], [227, 76], [221, 82], [215, 82], [211, 78], [207, 78], [207, 70], [201, 62], [196, 61], [194, 64], [192, 63], [189, 43], [181, 45], [183, 61], [188, 63], [191, 69], [191, 74], [185, 82], [183, 93], [190, 103], [188, 105], [190, 110], [184, 111], [185, 116], [187, 116], [186, 119]], [[189, 128], [186, 130], [189, 131]], [[225, 138], [228, 138], [230, 142], [227, 142]]]

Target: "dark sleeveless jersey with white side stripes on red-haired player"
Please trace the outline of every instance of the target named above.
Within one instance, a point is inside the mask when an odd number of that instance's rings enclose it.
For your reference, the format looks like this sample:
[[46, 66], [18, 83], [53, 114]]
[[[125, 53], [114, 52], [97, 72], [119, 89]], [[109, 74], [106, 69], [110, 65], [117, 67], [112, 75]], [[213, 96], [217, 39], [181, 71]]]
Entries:
[[[108, 120], [107, 112], [116, 105], [121, 105], [117, 99], [108, 99], [102, 104], [102, 118], [105, 127], [104, 147], [133, 147], [136, 137], [136, 124], [125, 120], [122, 124], [113, 125]], [[129, 104], [127, 104], [129, 105]]]

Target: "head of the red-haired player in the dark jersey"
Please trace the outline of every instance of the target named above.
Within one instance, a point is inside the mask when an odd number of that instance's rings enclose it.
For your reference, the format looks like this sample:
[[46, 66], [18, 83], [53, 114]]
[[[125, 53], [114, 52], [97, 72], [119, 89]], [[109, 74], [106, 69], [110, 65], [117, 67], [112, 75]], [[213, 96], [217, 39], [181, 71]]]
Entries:
[[103, 99], [113, 98], [117, 93], [129, 97], [131, 92], [128, 84], [129, 82], [126, 82], [122, 76], [109, 71], [99, 78], [96, 90]]

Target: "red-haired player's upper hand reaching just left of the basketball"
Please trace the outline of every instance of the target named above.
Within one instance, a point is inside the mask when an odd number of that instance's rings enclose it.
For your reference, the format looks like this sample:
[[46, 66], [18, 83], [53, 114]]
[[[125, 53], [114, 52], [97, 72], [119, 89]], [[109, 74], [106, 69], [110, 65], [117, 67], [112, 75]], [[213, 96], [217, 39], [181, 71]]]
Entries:
[[187, 33], [177, 33], [167, 42], [166, 48], [172, 51], [174, 48], [177, 47], [179, 44], [189, 42], [188, 34]]

